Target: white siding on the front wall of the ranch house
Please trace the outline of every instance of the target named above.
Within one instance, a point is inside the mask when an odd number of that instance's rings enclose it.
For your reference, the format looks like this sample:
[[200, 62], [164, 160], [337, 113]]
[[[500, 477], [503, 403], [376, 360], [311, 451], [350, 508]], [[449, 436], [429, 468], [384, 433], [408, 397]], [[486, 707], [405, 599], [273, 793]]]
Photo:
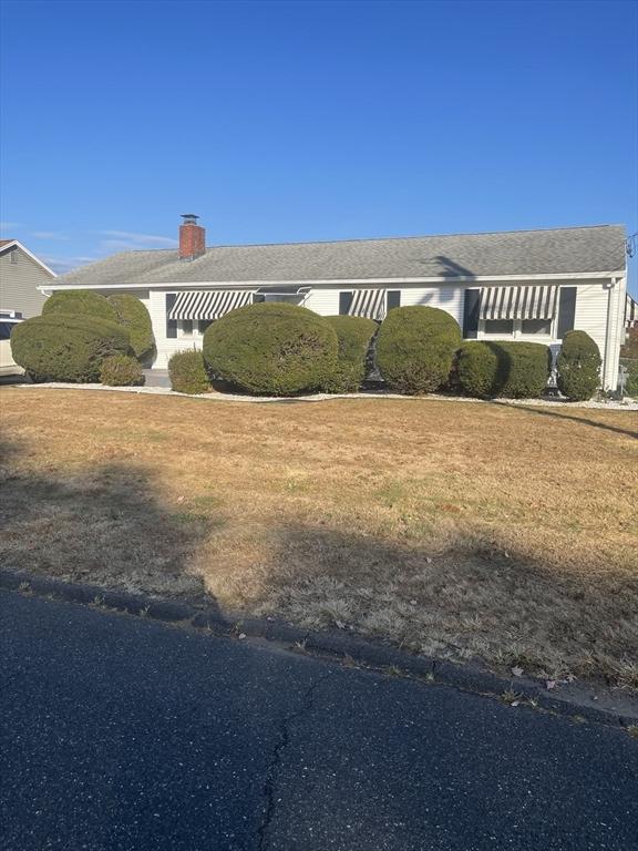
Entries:
[[[528, 281], [529, 284], [538, 284], [539, 281]], [[552, 284], [553, 281], [543, 281]], [[616, 286], [611, 289], [611, 345], [609, 351], [605, 351], [605, 337], [607, 328], [607, 308], [609, 299], [609, 280], [591, 279], [591, 280], [560, 280], [554, 281], [560, 286], [576, 286], [576, 315], [575, 315], [575, 328], [578, 330], [587, 331], [591, 338], [597, 342], [600, 355], [605, 360], [605, 387], [616, 387], [617, 369], [619, 347], [624, 340], [624, 305], [625, 305], [625, 287], [626, 281], [624, 278], [619, 279]], [[525, 281], [513, 281], [515, 286], [524, 285]], [[494, 281], [494, 285], [505, 286], [503, 281]], [[369, 287], [373, 287], [373, 283]], [[459, 325], [463, 325], [463, 301], [464, 290], [476, 289], [481, 286], [485, 286], [485, 281], [476, 284], [444, 284], [440, 287], [436, 286], [414, 286], [414, 285], [401, 285], [401, 284], [384, 284], [384, 289], [400, 289], [401, 290], [401, 305], [426, 305], [430, 307], [439, 307], [446, 310], [451, 316], [456, 319]], [[223, 287], [219, 287], [223, 288]], [[231, 288], [231, 287], [228, 287]], [[357, 288], [366, 288], [364, 285], [358, 285]], [[171, 355], [175, 351], [184, 349], [200, 348], [202, 337], [166, 337], [166, 294], [183, 291], [186, 289], [197, 289], [197, 287], [166, 287], [165, 289], [151, 289], [151, 290], [137, 290], [131, 288], [126, 290], [132, 295], [142, 298], [153, 322], [153, 332], [155, 335], [155, 341], [157, 346], [157, 357], [154, 363], [155, 369], [166, 369]], [[212, 289], [212, 287], [203, 287], [202, 289]], [[311, 310], [320, 314], [321, 316], [335, 316], [339, 312], [339, 294], [343, 291], [351, 291], [353, 287], [346, 285], [341, 286], [320, 286], [315, 287], [312, 291], [306, 297], [303, 305]], [[113, 290], [112, 290], [113, 291]], [[117, 290], [123, 291], [123, 290]], [[109, 295], [106, 290], [102, 290], [104, 295]], [[556, 327], [556, 321], [554, 327]], [[483, 338], [482, 326], [480, 325], [478, 339]], [[491, 336], [488, 339], [495, 340], [496, 337]], [[503, 338], [512, 339], [512, 337]], [[556, 351], [559, 347], [559, 340], [555, 337], [541, 337], [541, 336], [517, 336], [516, 339], [531, 340], [534, 342], [543, 342], [553, 347]], [[607, 355], [607, 357], [606, 357]]]

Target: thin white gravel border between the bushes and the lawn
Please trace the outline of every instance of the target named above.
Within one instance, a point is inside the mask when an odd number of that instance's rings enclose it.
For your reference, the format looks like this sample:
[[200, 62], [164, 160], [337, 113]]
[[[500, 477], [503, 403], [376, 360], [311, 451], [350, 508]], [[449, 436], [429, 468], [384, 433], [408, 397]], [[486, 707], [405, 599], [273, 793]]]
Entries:
[[291, 402], [323, 402], [335, 399], [402, 399], [403, 401], [436, 401], [436, 402], [465, 402], [471, 404], [502, 404], [502, 406], [533, 406], [535, 408], [555, 408], [564, 411], [576, 408], [593, 408], [604, 411], [638, 411], [638, 399], [620, 401], [588, 401], [568, 402], [565, 399], [472, 399], [465, 396], [444, 396], [442, 393], [429, 393], [428, 396], [402, 396], [388, 391], [360, 392], [360, 393], [312, 393], [310, 396], [240, 396], [238, 393], [177, 393], [167, 387], [105, 387], [104, 385], [72, 385], [51, 381], [42, 385], [20, 383], [20, 388], [47, 389], [47, 390], [103, 390], [113, 393], [146, 393], [153, 396], [172, 396], [185, 399], [206, 399], [212, 402], [253, 402], [253, 403], [279, 403]]

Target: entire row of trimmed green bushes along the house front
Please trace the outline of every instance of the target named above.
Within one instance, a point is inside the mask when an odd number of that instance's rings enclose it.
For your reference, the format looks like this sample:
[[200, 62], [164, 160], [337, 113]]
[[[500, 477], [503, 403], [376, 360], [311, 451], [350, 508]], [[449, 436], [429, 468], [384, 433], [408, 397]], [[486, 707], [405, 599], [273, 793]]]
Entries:
[[[399, 307], [378, 326], [351, 316], [322, 318], [302, 307], [260, 303], [213, 322], [203, 351], [177, 352], [172, 387], [199, 393], [212, 382], [248, 393], [294, 396], [351, 392], [366, 378], [371, 341], [390, 389], [426, 393], [450, 387], [482, 398], [531, 398], [543, 393], [552, 367], [549, 348], [535, 342], [463, 344], [457, 322], [432, 307]], [[138, 360], [153, 351], [148, 311], [133, 296], [106, 299], [91, 291], [59, 293], [42, 317], [12, 335], [16, 361], [34, 380], [143, 381]], [[569, 331], [557, 359], [558, 388], [573, 400], [589, 399], [599, 383], [600, 353], [583, 331]]]

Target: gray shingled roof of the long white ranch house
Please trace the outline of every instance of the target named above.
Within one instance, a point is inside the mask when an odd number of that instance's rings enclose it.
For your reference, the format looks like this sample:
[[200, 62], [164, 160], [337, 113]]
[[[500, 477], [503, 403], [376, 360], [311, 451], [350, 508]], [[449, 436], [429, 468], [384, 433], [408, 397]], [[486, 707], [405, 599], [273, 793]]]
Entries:
[[624, 240], [621, 225], [600, 225], [338, 243], [216, 246], [192, 262], [179, 260], [176, 250], [124, 252], [62, 275], [56, 285], [107, 287], [616, 271], [625, 268]]

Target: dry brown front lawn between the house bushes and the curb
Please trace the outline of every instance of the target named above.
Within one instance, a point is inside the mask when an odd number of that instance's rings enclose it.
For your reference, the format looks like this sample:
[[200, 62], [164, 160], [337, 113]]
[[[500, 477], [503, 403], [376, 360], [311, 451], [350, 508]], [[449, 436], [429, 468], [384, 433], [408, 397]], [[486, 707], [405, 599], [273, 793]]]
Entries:
[[638, 687], [637, 416], [2, 388], [4, 567]]

